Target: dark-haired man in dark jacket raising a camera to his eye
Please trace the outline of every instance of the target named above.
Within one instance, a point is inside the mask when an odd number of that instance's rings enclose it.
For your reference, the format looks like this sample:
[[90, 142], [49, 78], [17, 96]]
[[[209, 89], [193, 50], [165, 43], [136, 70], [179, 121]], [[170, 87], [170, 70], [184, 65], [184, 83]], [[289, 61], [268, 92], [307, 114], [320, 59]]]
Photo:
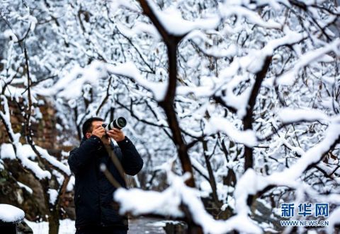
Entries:
[[[116, 187], [108, 181], [100, 168], [105, 165], [114, 180], [125, 187], [125, 180], [119, 169], [123, 167], [126, 174], [136, 175], [143, 166], [140, 154], [123, 131], [105, 131], [101, 124], [101, 118], [87, 119], [83, 124], [84, 137], [79, 148], [74, 148], [69, 153], [69, 168], [76, 179], [76, 234], [127, 233], [128, 218], [119, 215], [118, 206], [113, 202]], [[114, 146], [111, 139], [119, 147]], [[121, 166], [116, 166], [110, 156], [117, 157]]]

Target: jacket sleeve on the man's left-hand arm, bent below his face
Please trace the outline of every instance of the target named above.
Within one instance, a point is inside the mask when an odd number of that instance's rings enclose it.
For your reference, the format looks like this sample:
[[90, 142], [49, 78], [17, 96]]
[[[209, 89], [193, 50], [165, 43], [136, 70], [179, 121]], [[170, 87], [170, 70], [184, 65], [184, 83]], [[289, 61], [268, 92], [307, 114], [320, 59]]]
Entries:
[[91, 162], [91, 158], [96, 155], [96, 152], [103, 147], [103, 143], [98, 136], [91, 136], [89, 139], [84, 141], [83, 144], [79, 146], [79, 148], [74, 148], [69, 153], [69, 168], [72, 170], [74, 174], [77, 174], [81, 171], [82, 168], [85, 167], [89, 162]]

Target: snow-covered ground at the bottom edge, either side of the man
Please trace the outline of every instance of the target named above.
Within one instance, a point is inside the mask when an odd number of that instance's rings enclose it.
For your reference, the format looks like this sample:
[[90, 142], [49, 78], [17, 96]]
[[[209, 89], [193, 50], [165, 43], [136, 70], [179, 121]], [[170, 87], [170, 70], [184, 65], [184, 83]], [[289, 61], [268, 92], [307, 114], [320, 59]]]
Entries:
[[[28, 226], [33, 229], [34, 234], [46, 234], [48, 233], [48, 223], [33, 223], [26, 220]], [[165, 234], [163, 230], [165, 226], [164, 221], [156, 218], [136, 218], [129, 221], [129, 234]], [[74, 228], [74, 221], [70, 219], [64, 219], [60, 221], [60, 234], [74, 234], [76, 229]]]

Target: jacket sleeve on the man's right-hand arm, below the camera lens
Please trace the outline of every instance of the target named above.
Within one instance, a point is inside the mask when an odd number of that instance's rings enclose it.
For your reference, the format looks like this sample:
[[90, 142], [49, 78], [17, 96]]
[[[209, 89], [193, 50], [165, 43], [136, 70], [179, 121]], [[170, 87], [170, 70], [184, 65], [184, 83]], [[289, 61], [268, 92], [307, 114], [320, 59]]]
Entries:
[[138, 153], [132, 141], [128, 139], [128, 136], [125, 136], [123, 141], [118, 141], [117, 144], [122, 153], [120, 162], [125, 173], [128, 175], [136, 175], [143, 168], [143, 160], [140, 153]]

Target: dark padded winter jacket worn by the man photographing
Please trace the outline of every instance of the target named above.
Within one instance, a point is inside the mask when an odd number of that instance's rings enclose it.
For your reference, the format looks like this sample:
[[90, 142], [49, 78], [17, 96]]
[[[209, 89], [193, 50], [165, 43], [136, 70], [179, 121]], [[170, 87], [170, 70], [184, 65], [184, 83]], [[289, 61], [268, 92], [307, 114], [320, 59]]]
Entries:
[[[118, 147], [119, 146], [119, 147]], [[111, 144], [115, 156], [120, 160], [125, 173], [136, 175], [143, 167], [143, 160], [130, 139], [125, 136], [118, 146]], [[118, 214], [114, 206], [115, 187], [101, 172], [100, 165], [106, 165], [111, 175], [125, 187], [125, 180], [108, 156], [101, 139], [91, 136], [83, 138], [79, 148], [69, 153], [69, 168], [75, 175], [74, 204], [76, 206], [76, 227], [120, 226], [128, 229], [128, 218]]]

